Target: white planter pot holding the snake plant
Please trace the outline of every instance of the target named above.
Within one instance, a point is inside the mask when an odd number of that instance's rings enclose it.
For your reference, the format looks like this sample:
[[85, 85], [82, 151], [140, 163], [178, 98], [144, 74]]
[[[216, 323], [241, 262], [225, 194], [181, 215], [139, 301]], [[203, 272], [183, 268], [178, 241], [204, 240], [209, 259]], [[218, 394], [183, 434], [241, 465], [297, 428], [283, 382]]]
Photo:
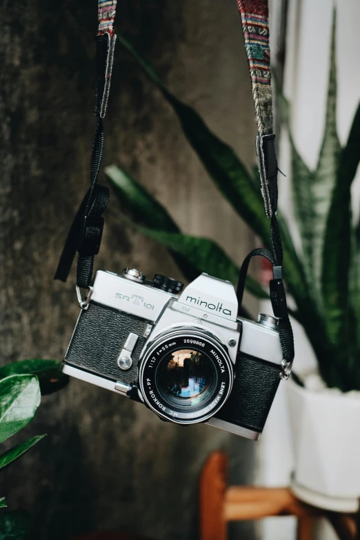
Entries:
[[360, 392], [306, 390], [289, 380], [295, 468], [291, 488], [319, 508], [356, 512], [360, 498]]

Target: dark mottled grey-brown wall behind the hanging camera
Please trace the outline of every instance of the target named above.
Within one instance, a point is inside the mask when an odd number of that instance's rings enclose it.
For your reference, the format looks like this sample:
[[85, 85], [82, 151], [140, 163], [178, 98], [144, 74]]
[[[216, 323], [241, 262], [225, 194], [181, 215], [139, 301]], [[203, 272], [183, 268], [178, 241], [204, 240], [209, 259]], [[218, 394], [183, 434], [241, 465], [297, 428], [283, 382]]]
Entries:
[[[1, 362], [61, 359], [78, 308], [74, 272], [66, 285], [52, 275], [88, 187], [96, 2], [3, 0], [0, 18]], [[170, 88], [251, 166], [254, 120], [235, 1], [122, 0], [118, 21]], [[216, 239], [240, 263], [252, 235], [119, 45], [109, 113], [104, 163], [121, 163], [183, 230]], [[97, 265], [181, 278], [166, 251], [124, 228], [118, 214], [112, 198]], [[43, 398], [36, 419], [14, 439], [42, 432], [48, 437], [1, 481], [12, 508], [32, 510], [36, 540], [103, 529], [196, 539], [197, 479], [208, 453], [228, 449], [232, 481], [251, 480], [253, 443], [206, 426], [163, 423], [80, 381]], [[232, 528], [239, 531], [252, 538], [251, 526]]]

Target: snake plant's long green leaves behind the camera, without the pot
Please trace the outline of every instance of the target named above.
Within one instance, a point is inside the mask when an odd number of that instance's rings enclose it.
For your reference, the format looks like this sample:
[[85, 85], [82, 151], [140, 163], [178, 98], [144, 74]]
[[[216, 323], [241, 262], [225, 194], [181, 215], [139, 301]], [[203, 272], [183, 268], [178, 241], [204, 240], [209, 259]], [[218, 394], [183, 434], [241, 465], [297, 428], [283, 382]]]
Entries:
[[[126, 37], [118, 34], [118, 39], [174, 110], [188, 143], [221, 195], [263, 245], [270, 247], [270, 223], [257, 173], [243, 166], [234, 150], [207, 128], [200, 115], [168, 90]], [[280, 101], [290, 138], [294, 211], [301, 234], [301, 248], [297, 249], [279, 211], [286, 287], [296, 305], [292, 316], [305, 329], [326, 384], [343, 391], [360, 390], [360, 225], [352, 219], [350, 194], [360, 160], [360, 104], [348, 141], [341, 147], [336, 126], [334, 28], [326, 123], [314, 170], [294, 144], [288, 122], [290, 105], [284, 97]], [[106, 168], [106, 175], [122, 208], [130, 213], [132, 226], [166, 246], [186, 278], [208, 272], [237, 281], [239, 268], [221, 246], [207, 238], [183, 234], [166, 208], [119, 166]], [[267, 297], [267, 291], [254, 279], [248, 279], [247, 288], [256, 297]]]

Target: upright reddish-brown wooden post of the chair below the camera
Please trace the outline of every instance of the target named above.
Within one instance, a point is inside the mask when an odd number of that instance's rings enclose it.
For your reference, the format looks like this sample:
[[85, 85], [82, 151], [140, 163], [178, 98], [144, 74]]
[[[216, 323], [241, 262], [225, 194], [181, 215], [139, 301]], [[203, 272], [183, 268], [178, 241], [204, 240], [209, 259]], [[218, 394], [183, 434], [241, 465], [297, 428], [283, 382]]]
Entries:
[[227, 524], [223, 508], [228, 479], [228, 457], [223, 452], [210, 455], [200, 479], [200, 540], [226, 540]]

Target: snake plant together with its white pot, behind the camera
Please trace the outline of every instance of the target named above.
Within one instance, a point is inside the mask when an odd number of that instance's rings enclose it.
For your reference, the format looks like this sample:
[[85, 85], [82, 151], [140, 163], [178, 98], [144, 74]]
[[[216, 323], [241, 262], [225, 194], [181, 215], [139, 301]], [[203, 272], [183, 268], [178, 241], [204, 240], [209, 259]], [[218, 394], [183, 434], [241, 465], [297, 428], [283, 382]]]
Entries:
[[[257, 172], [248, 171], [234, 151], [208, 130], [199, 114], [166, 88], [125, 37], [119, 34], [118, 39], [172, 106], [186, 139], [223, 197], [269, 247], [270, 226]], [[294, 145], [288, 126], [289, 105], [280, 96], [290, 138], [301, 250], [295, 248], [281, 210], [279, 226], [286, 287], [296, 306], [291, 314], [303, 326], [316, 354], [320, 381], [316, 389], [313, 384], [306, 388], [308, 379], [301, 377], [289, 383], [297, 450], [294, 489], [319, 506], [353, 510], [360, 497], [360, 226], [352, 223], [350, 188], [360, 161], [360, 106], [346, 146], [341, 148], [334, 51], [333, 31], [326, 126], [316, 170], [308, 168]], [[106, 168], [106, 174], [126, 210], [122, 219], [166, 246], [187, 279], [205, 271], [237, 282], [239, 268], [220, 246], [207, 238], [182, 234], [167, 210], [118, 166]], [[268, 297], [254, 279], [248, 278], [247, 288], [260, 299]]]

